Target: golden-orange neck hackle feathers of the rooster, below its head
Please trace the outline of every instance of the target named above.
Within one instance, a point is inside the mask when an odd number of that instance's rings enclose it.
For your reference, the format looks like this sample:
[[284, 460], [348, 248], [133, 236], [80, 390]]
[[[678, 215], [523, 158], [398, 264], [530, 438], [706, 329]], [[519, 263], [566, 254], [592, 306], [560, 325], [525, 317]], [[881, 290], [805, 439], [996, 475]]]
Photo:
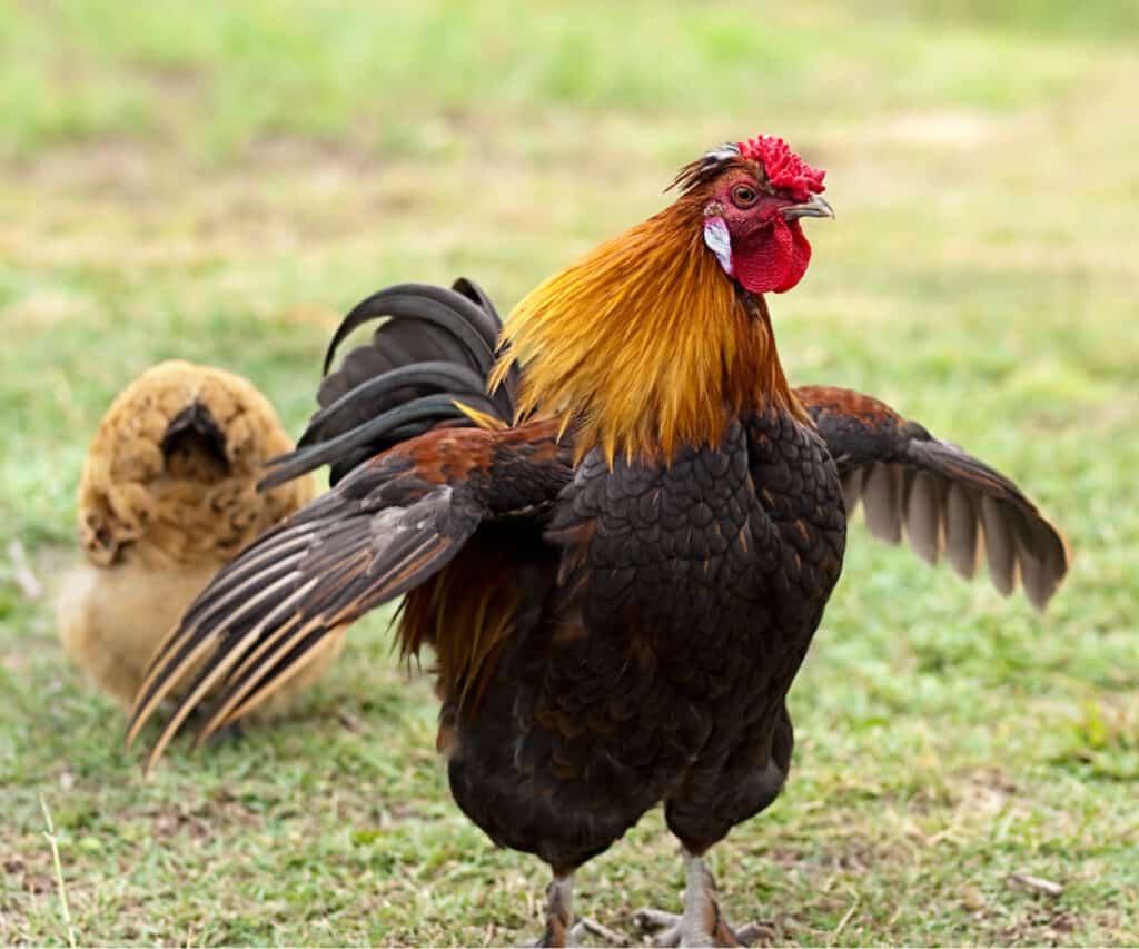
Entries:
[[518, 408], [574, 427], [579, 457], [669, 460], [719, 444], [732, 416], [769, 404], [808, 416], [784, 376], [767, 304], [738, 289], [704, 245], [703, 203], [685, 195], [546, 280], [506, 321], [525, 363]]

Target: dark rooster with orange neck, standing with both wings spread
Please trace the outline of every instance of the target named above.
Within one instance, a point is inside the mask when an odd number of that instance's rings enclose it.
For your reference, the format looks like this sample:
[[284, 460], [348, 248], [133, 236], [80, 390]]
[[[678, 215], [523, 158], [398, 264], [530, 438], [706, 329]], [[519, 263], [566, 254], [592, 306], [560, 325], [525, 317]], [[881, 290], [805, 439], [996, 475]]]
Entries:
[[[708, 849], [780, 793], [787, 690], [842, 568], [858, 501], [928, 559], [1043, 606], [1060, 535], [1007, 478], [883, 403], [792, 388], [765, 294], [803, 277], [816, 171], [777, 138], [682, 169], [661, 213], [500, 325], [473, 284], [361, 303], [321, 408], [265, 480], [331, 465], [334, 489], [222, 571], [156, 656], [133, 741], [197, 673], [199, 741], [407, 594], [403, 653], [435, 654], [437, 746], [459, 807], [551, 869], [542, 944], [582, 934], [574, 873], [663, 803], [687, 885], [662, 944], [735, 944]], [[387, 318], [328, 369], [345, 337]], [[495, 353], [498, 358], [495, 359]]]

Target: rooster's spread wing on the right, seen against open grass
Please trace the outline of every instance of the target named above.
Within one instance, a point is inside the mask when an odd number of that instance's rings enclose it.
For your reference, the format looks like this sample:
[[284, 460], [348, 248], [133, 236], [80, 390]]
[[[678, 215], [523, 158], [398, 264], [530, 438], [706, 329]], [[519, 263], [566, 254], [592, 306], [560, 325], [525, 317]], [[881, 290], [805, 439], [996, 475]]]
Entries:
[[983, 549], [1001, 594], [1019, 579], [1032, 605], [1044, 608], [1070, 553], [1016, 484], [869, 395], [829, 386], [795, 392], [838, 465], [849, 517], [861, 500], [875, 537], [898, 543], [904, 526], [920, 557], [934, 564], [944, 553], [965, 578]]

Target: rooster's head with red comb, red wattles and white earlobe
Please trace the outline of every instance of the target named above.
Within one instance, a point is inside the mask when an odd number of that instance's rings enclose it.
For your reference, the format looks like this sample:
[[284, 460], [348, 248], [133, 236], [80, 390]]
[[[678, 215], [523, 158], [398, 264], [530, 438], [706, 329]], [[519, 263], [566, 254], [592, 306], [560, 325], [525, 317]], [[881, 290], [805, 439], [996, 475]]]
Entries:
[[800, 218], [834, 218], [821, 197], [826, 172], [780, 138], [724, 144], [686, 165], [675, 185], [695, 199], [704, 243], [752, 293], [782, 293], [806, 272], [811, 245]]

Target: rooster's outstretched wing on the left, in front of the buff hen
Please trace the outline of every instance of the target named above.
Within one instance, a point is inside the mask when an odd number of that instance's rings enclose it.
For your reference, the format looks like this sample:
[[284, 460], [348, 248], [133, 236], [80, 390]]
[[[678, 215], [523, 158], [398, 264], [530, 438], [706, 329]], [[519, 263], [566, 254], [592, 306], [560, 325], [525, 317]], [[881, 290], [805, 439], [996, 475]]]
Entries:
[[555, 435], [554, 423], [444, 428], [354, 469], [249, 547], [191, 604], [151, 661], [128, 742], [190, 676], [147, 767], [208, 698], [204, 739], [319, 656], [333, 631], [435, 575], [481, 523], [549, 507], [570, 477]]

